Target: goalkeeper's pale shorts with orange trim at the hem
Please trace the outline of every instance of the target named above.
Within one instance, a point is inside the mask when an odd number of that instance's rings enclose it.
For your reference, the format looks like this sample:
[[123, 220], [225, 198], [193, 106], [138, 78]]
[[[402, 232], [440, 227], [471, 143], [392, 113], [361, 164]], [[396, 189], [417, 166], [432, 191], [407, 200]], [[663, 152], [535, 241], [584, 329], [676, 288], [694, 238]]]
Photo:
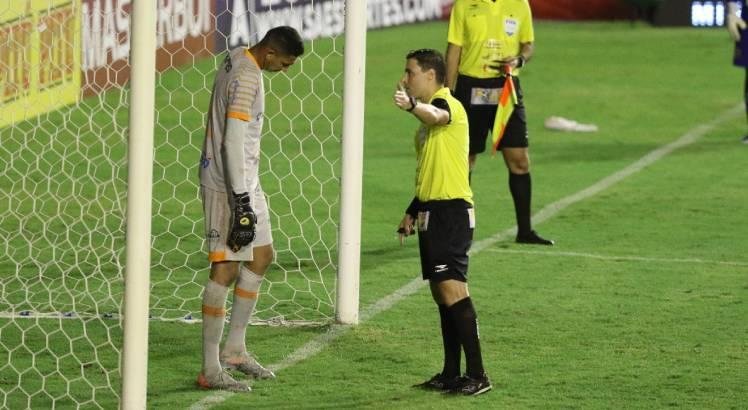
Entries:
[[226, 245], [231, 226], [231, 208], [229, 197], [226, 192], [214, 191], [204, 186], [200, 187], [200, 196], [203, 200], [203, 212], [205, 214], [205, 243], [208, 247], [208, 260], [211, 262], [223, 261], [251, 261], [252, 248], [270, 245], [273, 236], [270, 232], [270, 212], [265, 193], [261, 187], [257, 187], [252, 194], [251, 205], [257, 215], [257, 233], [255, 240], [249, 246], [233, 252]]

